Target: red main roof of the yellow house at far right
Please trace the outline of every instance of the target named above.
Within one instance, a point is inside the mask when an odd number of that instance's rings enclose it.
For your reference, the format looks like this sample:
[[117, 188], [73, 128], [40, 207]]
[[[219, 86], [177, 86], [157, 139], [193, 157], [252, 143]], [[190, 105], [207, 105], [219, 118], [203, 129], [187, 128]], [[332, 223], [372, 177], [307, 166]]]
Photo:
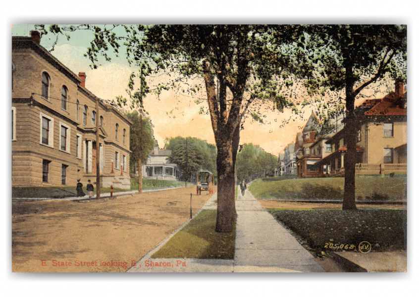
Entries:
[[[403, 104], [401, 104], [401, 100], [407, 99], [407, 92], [404, 93], [400, 98], [396, 97], [394, 92], [391, 92], [386, 97], [381, 99], [379, 102], [375, 103], [374, 100], [366, 100], [370, 102], [364, 101], [366, 103], [364, 106], [371, 106], [374, 105], [371, 109], [366, 111], [364, 115], [407, 115], [407, 108], [402, 108]], [[375, 104], [373, 104], [375, 103]]]

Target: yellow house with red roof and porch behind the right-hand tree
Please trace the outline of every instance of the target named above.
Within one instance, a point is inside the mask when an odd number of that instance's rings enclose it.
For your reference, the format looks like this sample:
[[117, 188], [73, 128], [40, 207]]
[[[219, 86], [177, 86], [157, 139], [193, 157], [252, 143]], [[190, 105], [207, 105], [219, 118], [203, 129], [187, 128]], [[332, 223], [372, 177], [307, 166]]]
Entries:
[[[407, 173], [407, 92], [396, 80], [395, 91], [382, 99], [367, 99], [355, 110], [358, 119], [356, 174]], [[346, 128], [325, 144], [332, 152], [317, 161], [330, 166], [331, 176], [343, 176]]]

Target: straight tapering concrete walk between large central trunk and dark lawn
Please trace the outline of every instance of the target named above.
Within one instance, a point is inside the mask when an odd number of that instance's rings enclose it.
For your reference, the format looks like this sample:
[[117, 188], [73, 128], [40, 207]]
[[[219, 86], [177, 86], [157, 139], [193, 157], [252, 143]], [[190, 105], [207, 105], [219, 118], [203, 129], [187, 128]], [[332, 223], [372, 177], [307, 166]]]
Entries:
[[248, 190], [238, 191], [234, 272], [324, 272]]

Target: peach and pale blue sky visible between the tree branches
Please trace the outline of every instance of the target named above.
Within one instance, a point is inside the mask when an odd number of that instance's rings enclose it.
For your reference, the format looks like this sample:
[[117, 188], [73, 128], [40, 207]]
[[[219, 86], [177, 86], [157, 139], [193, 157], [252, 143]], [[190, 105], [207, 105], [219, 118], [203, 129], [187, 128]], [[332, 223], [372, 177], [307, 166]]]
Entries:
[[[47, 27], [47, 26], [46, 26]], [[13, 36], [29, 36], [30, 31], [35, 30], [34, 25], [13, 25]], [[116, 33], [118, 33], [116, 31]], [[90, 60], [83, 56], [87, 47], [93, 39], [93, 33], [90, 30], [78, 30], [70, 32], [70, 39], [59, 36], [56, 45], [51, 51], [58, 60], [66, 65], [71, 71], [78, 74], [86, 73], [86, 88], [93, 94], [102, 99], [115, 99], [116, 96], [127, 97], [125, 89], [127, 88], [129, 74], [136, 69], [129, 66], [124, 55], [124, 49], [120, 49], [120, 56], [110, 55], [111, 61], [99, 60], [99, 67], [91, 69]], [[44, 35], [41, 39], [41, 46], [51, 50], [56, 36], [52, 33]], [[168, 79], [165, 75], [155, 75], [148, 78], [148, 84], [153, 89], [153, 85], [164, 83]], [[206, 110], [208, 103], [201, 100], [200, 104], [195, 103], [196, 99], [206, 98], [204, 80], [198, 78], [194, 84], [201, 85], [201, 92], [196, 95], [188, 95], [180, 91], [162, 91], [157, 97], [149, 94], [144, 99], [144, 107], [149, 113], [152, 124], [154, 125], [154, 136], [159, 148], [164, 147], [164, 140], [171, 137], [196, 137], [207, 140], [210, 144], [215, 144], [209, 114], [199, 114], [201, 106]], [[391, 88], [393, 88], [391, 86]], [[299, 89], [301, 90], [301, 88]], [[376, 88], [371, 86], [362, 92], [363, 98], [358, 99], [356, 104], [363, 100], [372, 98], [381, 98], [385, 89], [376, 93]], [[302, 100], [305, 93], [298, 93], [297, 100]], [[327, 98], [323, 98], [327, 100]], [[294, 143], [297, 132], [301, 132], [306, 124], [313, 105], [302, 109], [302, 114], [296, 116], [291, 110], [284, 112], [273, 111], [271, 104], [263, 106], [266, 110], [263, 112], [263, 124], [251, 119], [246, 119], [244, 130], [240, 134], [240, 144], [253, 143], [259, 145], [265, 151], [277, 156], [284, 150], [287, 144]], [[129, 110], [128, 107], [126, 107]], [[283, 122], [286, 121], [285, 125]]]

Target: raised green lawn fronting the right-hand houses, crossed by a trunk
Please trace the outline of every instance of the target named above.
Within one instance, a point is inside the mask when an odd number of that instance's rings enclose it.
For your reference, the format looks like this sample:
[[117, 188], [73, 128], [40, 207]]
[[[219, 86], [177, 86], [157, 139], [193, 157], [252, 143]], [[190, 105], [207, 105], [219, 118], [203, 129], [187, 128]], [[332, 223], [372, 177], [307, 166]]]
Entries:
[[[256, 181], [249, 190], [259, 199], [343, 199], [344, 178], [305, 178]], [[356, 176], [358, 200], [406, 200], [406, 175]]]

